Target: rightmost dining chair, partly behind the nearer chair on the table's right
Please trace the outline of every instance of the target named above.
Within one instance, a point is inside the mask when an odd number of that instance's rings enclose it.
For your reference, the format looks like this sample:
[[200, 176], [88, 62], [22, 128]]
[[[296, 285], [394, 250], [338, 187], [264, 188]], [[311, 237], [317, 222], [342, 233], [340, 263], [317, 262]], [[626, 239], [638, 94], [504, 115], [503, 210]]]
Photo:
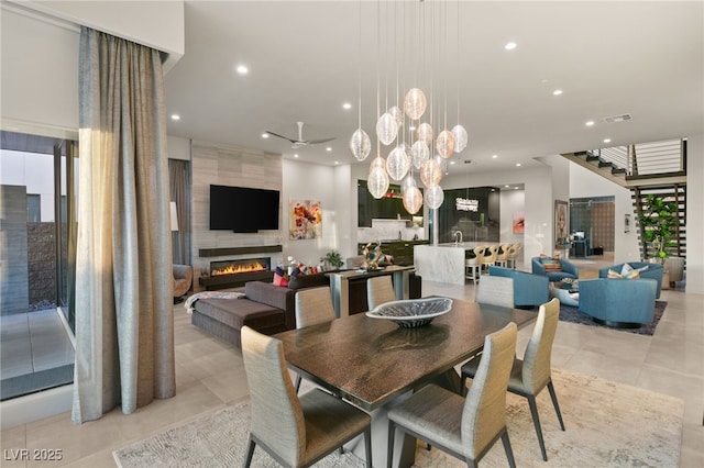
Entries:
[[[560, 413], [560, 404], [558, 403], [558, 395], [554, 392], [551, 377], [550, 356], [552, 354], [552, 342], [558, 328], [558, 320], [560, 316], [560, 301], [557, 298], [550, 300], [542, 305], [538, 311], [538, 320], [532, 331], [526, 353], [522, 359], [515, 358], [514, 367], [508, 380], [508, 391], [519, 394], [528, 399], [528, 405], [530, 406], [530, 414], [532, 415], [532, 423], [536, 426], [536, 433], [538, 434], [538, 443], [540, 444], [540, 452], [542, 452], [542, 459], [548, 461], [548, 454], [546, 452], [546, 444], [542, 439], [542, 430], [540, 428], [540, 419], [538, 417], [538, 406], [536, 405], [536, 397], [548, 387], [550, 391], [550, 398], [552, 399], [552, 405], [558, 414], [560, 421], [560, 427], [564, 431], [564, 422], [562, 421], [562, 413]], [[481, 367], [481, 360], [484, 357], [477, 357], [464, 366], [462, 366], [462, 383], [461, 388], [464, 389], [464, 383], [468, 378], [477, 375]]]

